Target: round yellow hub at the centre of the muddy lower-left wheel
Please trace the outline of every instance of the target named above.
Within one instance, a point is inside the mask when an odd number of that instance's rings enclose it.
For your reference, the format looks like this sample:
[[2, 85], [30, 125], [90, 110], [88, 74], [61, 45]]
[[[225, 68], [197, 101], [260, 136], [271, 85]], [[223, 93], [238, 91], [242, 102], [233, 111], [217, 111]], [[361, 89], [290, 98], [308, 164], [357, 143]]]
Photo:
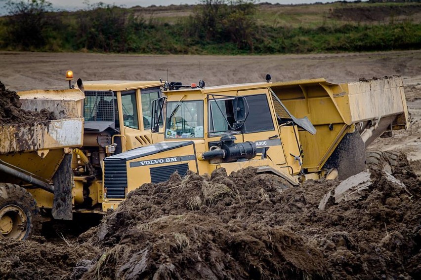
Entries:
[[23, 239], [27, 232], [27, 217], [17, 205], [7, 205], [0, 210], [0, 238]]

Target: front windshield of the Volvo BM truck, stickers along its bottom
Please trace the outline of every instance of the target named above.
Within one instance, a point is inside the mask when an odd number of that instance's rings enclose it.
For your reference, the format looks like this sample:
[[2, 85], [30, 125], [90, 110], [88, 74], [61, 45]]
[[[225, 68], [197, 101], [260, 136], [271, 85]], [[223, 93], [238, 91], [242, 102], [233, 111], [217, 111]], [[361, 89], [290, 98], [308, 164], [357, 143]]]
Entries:
[[165, 138], [203, 137], [203, 101], [168, 102]]

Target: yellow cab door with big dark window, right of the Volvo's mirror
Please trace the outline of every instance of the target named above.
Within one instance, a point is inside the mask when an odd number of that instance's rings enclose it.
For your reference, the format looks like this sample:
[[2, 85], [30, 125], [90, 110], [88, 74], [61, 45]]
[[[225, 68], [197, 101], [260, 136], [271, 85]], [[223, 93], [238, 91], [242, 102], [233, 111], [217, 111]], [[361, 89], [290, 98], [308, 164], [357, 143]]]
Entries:
[[257, 147], [257, 157], [269, 158], [275, 164], [286, 163], [284, 149], [267, 88], [239, 91], [249, 105], [249, 114], [244, 123], [244, 141], [253, 141]]

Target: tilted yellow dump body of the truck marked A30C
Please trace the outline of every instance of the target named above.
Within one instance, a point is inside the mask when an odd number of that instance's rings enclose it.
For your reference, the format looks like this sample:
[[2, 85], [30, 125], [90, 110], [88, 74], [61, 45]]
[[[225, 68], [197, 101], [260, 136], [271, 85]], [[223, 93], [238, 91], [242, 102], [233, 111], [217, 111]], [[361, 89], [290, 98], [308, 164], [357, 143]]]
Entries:
[[365, 148], [384, 132], [409, 125], [400, 77], [334, 84], [325, 79], [273, 83], [271, 89], [297, 118], [308, 117], [315, 135], [299, 131], [303, 169], [336, 167], [339, 179], [365, 165]]

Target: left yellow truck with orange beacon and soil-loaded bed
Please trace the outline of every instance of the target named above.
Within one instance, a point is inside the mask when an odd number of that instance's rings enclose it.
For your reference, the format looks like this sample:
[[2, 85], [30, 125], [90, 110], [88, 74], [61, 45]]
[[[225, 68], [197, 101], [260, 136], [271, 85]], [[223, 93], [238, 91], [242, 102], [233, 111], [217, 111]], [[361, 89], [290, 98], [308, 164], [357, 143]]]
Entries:
[[0, 126], [0, 238], [27, 239], [42, 221], [76, 212], [103, 214], [103, 159], [164, 140], [151, 132], [163, 84], [79, 79], [69, 89], [18, 92], [22, 109], [56, 119]]

